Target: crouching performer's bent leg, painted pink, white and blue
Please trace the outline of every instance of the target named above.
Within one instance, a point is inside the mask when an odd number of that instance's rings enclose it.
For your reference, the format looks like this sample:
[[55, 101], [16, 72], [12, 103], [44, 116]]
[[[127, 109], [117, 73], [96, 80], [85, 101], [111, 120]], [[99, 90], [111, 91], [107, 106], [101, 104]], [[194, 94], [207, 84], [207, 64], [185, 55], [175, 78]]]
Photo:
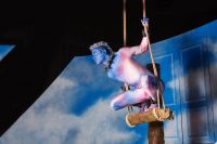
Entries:
[[127, 105], [144, 102], [145, 100], [150, 99], [148, 93], [149, 92], [146, 92], [144, 89], [136, 89], [133, 91], [124, 92], [112, 100], [111, 107], [112, 109], [117, 110]]

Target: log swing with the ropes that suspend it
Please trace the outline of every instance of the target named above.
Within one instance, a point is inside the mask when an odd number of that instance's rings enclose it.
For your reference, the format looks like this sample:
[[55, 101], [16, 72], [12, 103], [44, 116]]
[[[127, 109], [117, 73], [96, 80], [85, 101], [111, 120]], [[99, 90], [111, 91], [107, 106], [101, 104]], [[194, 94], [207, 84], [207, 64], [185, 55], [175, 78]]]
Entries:
[[[143, 0], [143, 17], [145, 17], [145, 0]], [[159, 78], [156, 70], [156, 65], [154, 62], [154, 56], [152, 53], [152, 48], [150, 44], [150, 38], [148, 32], [148, 22], [142, 22], [143, 28], [144, 28], [144, 35], [148, 38], [148, 45], [150, 50], [150, 55], [152, 60], [152, 66], [154, 76], [156, 77], [157, 81], [157, 107], [156, 108], [150, 108], [146, 112], [140, 112], [140, 113], [133, 113], [132, 106], [128, 106], [128, 114], [126, 115], [126, 123], [129, 127], [135, 127], [139, 123], [144, 122], [153, 122], [153, 121], [164, 121], [164, 120], [171, 120], [174, 119], [174, 113], [169, 108], [165, 108], [163, 92], [159, 87]], [[124, 0], [124, 44], [126, 45], [126, 0]], [[125, 83], [127, 86], [127, 83]], [[126, 87], [126, 90], [128, 90], [128, 87]]]

